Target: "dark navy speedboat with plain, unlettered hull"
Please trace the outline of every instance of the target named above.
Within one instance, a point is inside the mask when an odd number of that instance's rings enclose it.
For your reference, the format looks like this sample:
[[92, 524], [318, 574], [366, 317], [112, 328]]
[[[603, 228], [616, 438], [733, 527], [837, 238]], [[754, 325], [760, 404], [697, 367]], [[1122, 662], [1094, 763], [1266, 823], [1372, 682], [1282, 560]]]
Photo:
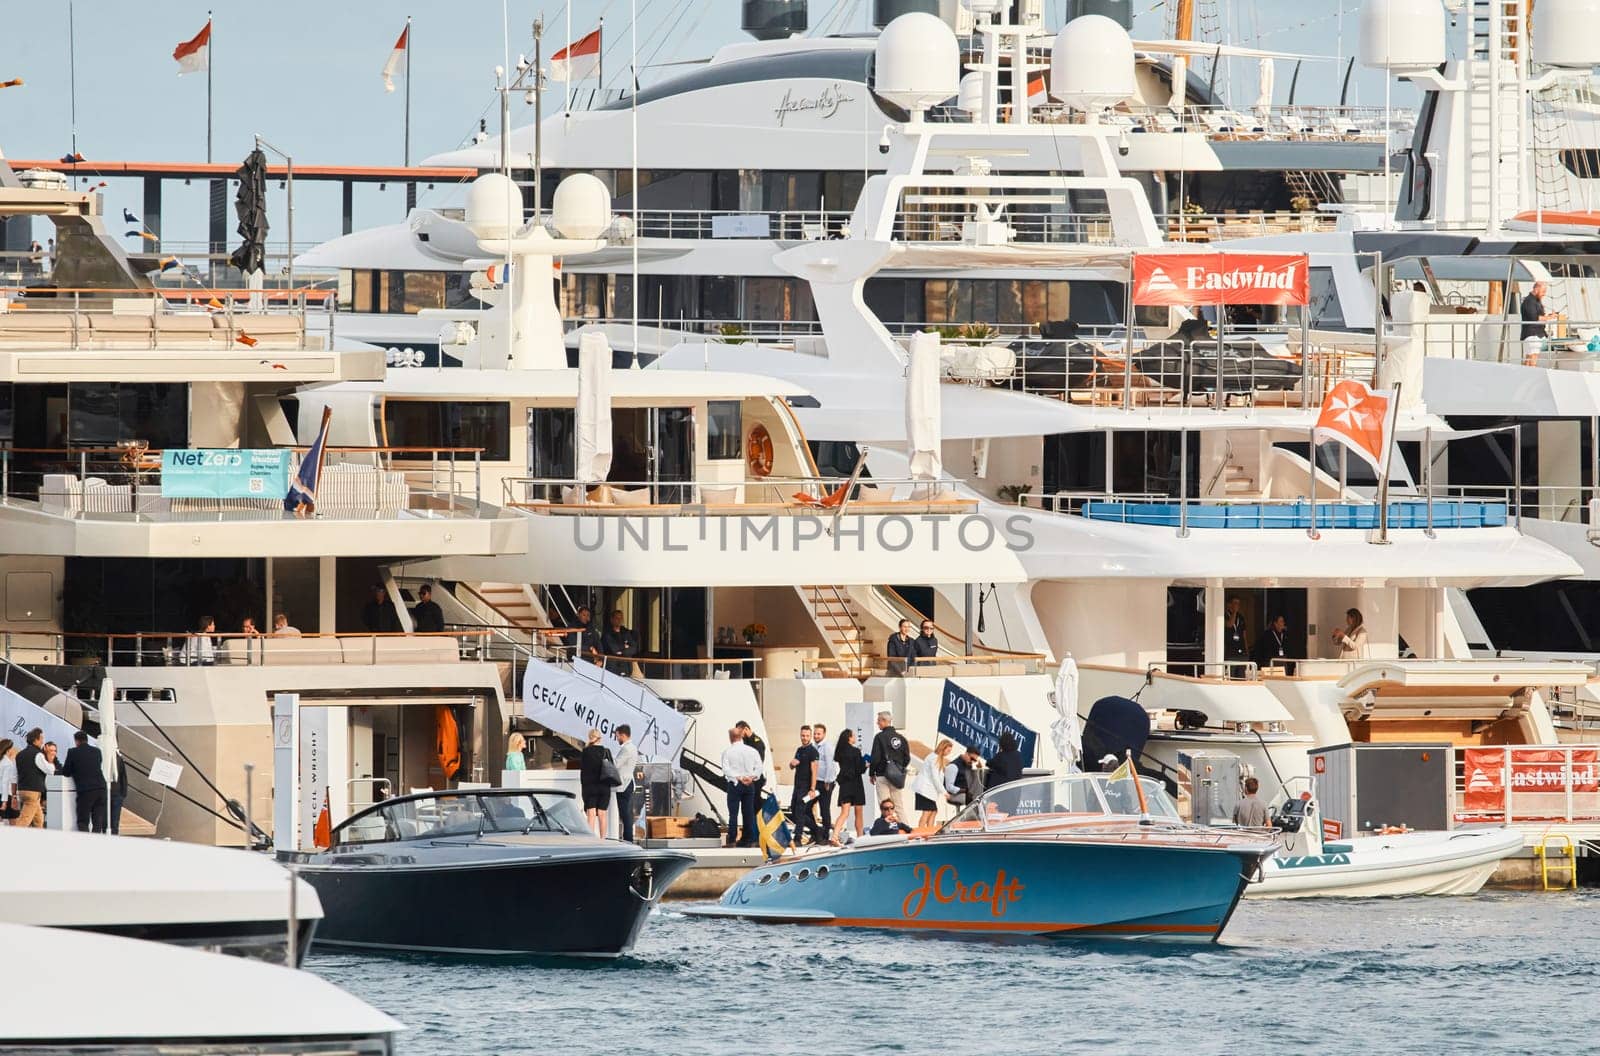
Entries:
[[694, 859], [600, 840], [570, 792], [402, 795], [290, 854], [322, 899], [317, 942], [424, 954], [614, 957]]

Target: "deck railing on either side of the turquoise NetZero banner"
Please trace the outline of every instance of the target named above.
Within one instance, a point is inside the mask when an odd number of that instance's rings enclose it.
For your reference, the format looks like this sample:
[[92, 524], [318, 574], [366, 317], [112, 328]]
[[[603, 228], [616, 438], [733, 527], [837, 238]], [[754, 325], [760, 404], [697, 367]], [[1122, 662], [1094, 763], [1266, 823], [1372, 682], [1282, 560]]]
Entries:
[[[291, 448], [291, 480], [306, 450]], [[162, 450], [136, 442], [106, 448], [0, 446], [0, 507], [24, 506], [74, 520], [131, 523], [478, 518], [494, 514], [483, 504], [483, 448], [330, 446], [326, 456], [315, 507], [293, 512], [285, 509], [282, 494], [168, 498], [162, 494]], [[398, 469], [397, 461], [402, 462]]]

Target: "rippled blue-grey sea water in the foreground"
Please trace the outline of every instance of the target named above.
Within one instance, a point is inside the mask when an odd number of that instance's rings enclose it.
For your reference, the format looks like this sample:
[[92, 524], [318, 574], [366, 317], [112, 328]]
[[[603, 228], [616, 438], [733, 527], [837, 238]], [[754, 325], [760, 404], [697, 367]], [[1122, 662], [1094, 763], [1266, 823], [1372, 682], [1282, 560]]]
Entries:
[[1446, 1056], [1592, 1051], [1597, 936], [1589, 891], [1246, 901], [1205, 946], [755, 925], [667, 904], [611, 962], [314, 949], [307, 966], [405, 1022], [402, 1056]]

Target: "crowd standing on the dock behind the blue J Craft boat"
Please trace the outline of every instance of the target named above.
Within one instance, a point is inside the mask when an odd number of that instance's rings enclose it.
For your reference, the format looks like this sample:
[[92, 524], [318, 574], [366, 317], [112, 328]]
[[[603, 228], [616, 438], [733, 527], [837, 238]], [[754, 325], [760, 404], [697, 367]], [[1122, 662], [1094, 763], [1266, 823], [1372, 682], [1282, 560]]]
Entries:
[[[766, 744], [750, 723], [739, 722], [728, 731], [728, 747], [720, 762], [728, 790], [726, 845], [754, 848], [760, 843], [757, 814], [766, 792]], [[787, 763], [794, 773], [787, 810], [790, 840], [794, 846], [840, 846], [845, 834], [910, 832], [912, 826], [902, 821], [907, 786], [917, 827], [928, 827], [938, 821], [944, 805], [963, 808], [986, 787], [1019, 779], [1024, 766], [1011, 733], [1000, 734], [1000, 747], [987, 760], [976, 747], [960, 747], [941, 738], [922, 755], [915, 776], [910, 776], [912, 744], [894, 728], [890, 712], [878, 712], [877, 733], [866, 752], [848, 726], [832, 739], [822, 723], [800, 726], [800, 742]], [[866, 821], [869, 790], [870, 824]]]

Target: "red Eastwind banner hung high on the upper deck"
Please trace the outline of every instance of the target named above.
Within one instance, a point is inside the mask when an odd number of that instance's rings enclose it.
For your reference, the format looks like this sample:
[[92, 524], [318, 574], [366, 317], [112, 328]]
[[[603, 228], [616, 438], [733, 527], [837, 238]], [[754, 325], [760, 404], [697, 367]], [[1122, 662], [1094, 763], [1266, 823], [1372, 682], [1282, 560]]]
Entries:
[[1134, 304], [1306, 304], [1302, 253], [1136, 253]]

